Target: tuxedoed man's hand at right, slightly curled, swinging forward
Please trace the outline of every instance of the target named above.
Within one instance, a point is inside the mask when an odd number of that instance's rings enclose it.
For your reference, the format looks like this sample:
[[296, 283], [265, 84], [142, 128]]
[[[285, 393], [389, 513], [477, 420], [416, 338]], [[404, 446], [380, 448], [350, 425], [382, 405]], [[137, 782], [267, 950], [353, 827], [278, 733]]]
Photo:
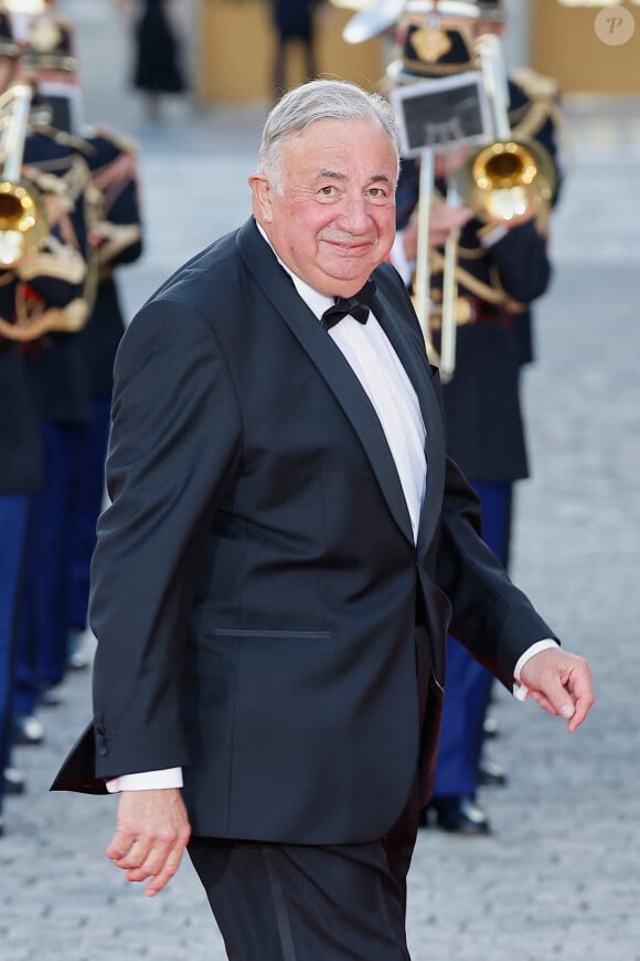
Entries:
[[569, 733], [582, 725], [596, 700], [588, 663], [559, 647], [534, 654], [520, 679], [540, 707], [567, 719]]

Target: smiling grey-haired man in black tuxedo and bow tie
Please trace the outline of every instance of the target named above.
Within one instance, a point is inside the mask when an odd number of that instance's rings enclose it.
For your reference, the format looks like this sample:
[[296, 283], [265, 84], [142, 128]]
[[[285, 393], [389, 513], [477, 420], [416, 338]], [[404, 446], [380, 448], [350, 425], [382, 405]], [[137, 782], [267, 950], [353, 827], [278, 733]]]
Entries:
[[116, 361], [95, 715], [54, 788], [121, 792], [107, 854], [148, 895], [189, 843], [234, 959], [408, 958], [449, 622], [569, 730], [593, 703], [446, 457], [384, 263], [397, 173], [384, 99], [289, 92], [254, 217], [163, 284]]

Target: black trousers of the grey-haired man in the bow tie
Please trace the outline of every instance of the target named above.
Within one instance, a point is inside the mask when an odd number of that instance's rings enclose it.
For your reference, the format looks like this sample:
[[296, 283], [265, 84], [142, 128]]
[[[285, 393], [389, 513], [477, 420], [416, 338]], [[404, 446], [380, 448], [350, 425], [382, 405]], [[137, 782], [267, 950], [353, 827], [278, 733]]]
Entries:
[[[430, 666], [416, 659], [422, 721]], [[406, 877], [419, 812], [416, 771], [396, 824], [367, 844], [193, 837], [189, 854], [230, 961], [409, 961]]]

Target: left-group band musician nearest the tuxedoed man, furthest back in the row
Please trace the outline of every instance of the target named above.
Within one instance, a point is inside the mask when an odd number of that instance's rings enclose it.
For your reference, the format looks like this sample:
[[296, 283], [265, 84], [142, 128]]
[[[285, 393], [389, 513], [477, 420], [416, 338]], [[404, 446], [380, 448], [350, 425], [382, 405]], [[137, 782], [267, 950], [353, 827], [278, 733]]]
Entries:
[[[116, 283], [118, 267], [136, 261], [142, 252], [138, 148], [129, 138], [105, 127], [82, 124], [79, 76], [73, 51], [73, 32], [52, 13], [33, 18], [31, 36], [38, 40], [39, 24], [45, 23], [56, 36], [52, 50], [32, 42], [21, 55], [21, 71], [35, 91], [33, 123], [46, 131], [64, 124], [56, 136], [68, 135], [86, 160], [94, 188], [92, 242], [97, 277], [92, 313], [75, 342], [86, 363], [92, 393], [92, 425], [83, 433], [77, 487], [67, 532], [65, 577], [65, 630], [67, 663], [83, 667], [90, 656], [83, 647], [86, 630], [89, 562], [96, 540], [96, 521], [104, 494], [104, 467], [110, 419], [113, 366], [125, 330], [124, 311]], [[55, 102], [47, 91], [55, 89]], [[68, 107], [64, 108], [64, 93]], [[49, 109], [49, 113], [47, 113]]]

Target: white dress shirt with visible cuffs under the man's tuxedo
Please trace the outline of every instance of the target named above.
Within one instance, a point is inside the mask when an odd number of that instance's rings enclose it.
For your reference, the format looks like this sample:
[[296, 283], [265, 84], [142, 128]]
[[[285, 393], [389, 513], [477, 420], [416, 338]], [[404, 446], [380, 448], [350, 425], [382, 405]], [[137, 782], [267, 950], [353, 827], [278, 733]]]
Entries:
[[[268, 243], [259, 225], [258, 230]], [[280, 260], [279, 262], [290, 275], [302, 300], [320, 321], [324, 310], [333, 304], [333, 298], [319, 294], [300, 277], [295, 276]], [[415, 540], [427, 483], [426, 431], [416, 392], [373, 311], [370, 313], [366, 324], [360, 324], [354, 317], [346, 315], [328, 334], [358, 377], [380, 419], [398, 472]], [[555, 641], [544, 640], [525, 651], [515, 665], [516, 680], [530, 657], [545, 647], [555, 646]], [[519, 700], [524, 700], [527, 689], [516, 683], [513, 693]], [[109, 793], [181, 786], [181, 768], [124, 774], [107, 781]]]

